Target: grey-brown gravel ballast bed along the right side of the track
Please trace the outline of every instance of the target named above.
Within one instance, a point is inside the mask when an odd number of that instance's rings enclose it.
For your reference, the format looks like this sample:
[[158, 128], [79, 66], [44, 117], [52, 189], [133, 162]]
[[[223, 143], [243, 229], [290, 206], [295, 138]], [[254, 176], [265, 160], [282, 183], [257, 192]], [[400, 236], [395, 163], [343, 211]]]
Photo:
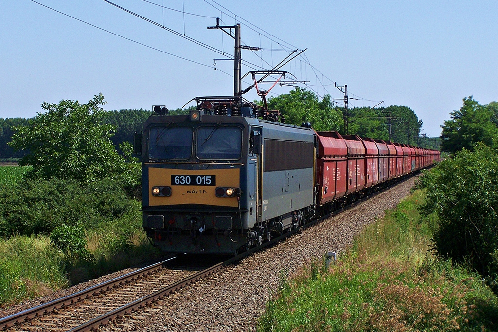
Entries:
[[407, 196], [415, 178], [223, 268], [153, 306], [132, 312], [100, 331], [255, 331], [282, 275], [298, 271], [327, 251], [343, 252], [365, 225]]

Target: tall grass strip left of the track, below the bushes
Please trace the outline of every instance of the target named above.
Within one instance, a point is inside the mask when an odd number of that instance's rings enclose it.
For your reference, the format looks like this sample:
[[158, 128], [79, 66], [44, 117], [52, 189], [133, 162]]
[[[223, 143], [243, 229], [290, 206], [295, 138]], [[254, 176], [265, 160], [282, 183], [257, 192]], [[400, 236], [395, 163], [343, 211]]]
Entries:
[[140, 228], [124, 233], [109, 225], [86, 233], [91, 260], [56, 248], [46, 235], [0, 240], [0, 306], [20, 303], [120, 269], [157, 259]]

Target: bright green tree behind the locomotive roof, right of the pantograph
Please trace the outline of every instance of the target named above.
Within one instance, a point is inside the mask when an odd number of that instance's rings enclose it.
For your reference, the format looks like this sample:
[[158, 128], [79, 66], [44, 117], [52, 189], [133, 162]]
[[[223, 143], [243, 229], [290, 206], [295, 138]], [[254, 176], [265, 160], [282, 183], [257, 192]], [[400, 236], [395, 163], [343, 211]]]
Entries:
[[296, 88], [288, 94], [268, 100], [270, 110], [278, 110], [285, 116], [285, 122], [301, 125], [310, 122], [315, 130], [338, 130], [343, 125], [342, 114], [336, 111], [329, 95], [322, 101], [311, 91]]

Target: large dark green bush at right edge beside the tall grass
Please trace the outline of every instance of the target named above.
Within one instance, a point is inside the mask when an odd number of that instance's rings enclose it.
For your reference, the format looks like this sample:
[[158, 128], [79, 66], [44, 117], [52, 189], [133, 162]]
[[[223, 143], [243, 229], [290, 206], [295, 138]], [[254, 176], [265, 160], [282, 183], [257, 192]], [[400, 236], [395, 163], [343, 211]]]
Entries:
[[479, 144], [439, 163], [421, 179], [426, 214], [435, 212], [437, 251], [497, 279], [498, 151]]

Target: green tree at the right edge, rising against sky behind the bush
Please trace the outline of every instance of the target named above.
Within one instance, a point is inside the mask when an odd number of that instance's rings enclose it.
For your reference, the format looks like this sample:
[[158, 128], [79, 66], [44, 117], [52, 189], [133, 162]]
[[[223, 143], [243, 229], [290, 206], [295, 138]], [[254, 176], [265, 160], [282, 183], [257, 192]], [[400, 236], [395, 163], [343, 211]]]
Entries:
[[493, 122], [493, 111], [480, 105], [470, 96], [463, 99], [464, 105], [451, 112], [451, 120], [441, 126], [441, 150], [455, 153], [463, 148], [473, 150], [478, 142], [494, 146], [498, 128]]

